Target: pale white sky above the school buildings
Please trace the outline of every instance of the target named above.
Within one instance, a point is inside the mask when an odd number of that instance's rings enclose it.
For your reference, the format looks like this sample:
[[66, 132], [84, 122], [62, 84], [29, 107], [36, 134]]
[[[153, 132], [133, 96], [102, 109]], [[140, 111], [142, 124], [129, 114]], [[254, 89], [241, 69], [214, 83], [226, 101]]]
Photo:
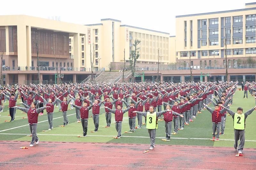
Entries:
[[[121, 20], [123, 25], [175, 35], [175, 16], [245, 8], [253, 0], [4, 0], [0, 15], [60, 16], [61, 21], [97, 24], [100, 19]], [[1, 22], [1, 21], [0, 21]]]

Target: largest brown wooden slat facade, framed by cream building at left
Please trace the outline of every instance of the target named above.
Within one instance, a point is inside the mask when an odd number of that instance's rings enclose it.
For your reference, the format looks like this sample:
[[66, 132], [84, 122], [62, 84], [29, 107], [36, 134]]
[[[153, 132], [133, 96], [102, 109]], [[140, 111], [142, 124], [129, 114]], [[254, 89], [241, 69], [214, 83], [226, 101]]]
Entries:
[[68, 33], [31, 28], [32, 56], [36, 56], [36, 37], [38, 37], [39, 57], [69, 58]]

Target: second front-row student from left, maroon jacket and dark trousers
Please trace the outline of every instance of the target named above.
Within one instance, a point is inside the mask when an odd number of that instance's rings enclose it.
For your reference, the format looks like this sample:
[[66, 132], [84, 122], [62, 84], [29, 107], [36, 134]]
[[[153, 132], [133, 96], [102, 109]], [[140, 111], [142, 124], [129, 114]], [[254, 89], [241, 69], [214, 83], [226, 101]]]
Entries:
[[70, 103], [73, 107], [75, 107], [77, 110], [79, 110], [80, 117], [81, 117], [81, 123], [83, 127], [83, 136], [87, 136], [87, 128], [88, 128], [88, 117], [89, 117], [89, 110], [92, 108], [92, 105], [87, 107], [87, 103], [83, 102], [82, 106], [74, 105], [73, 103]]

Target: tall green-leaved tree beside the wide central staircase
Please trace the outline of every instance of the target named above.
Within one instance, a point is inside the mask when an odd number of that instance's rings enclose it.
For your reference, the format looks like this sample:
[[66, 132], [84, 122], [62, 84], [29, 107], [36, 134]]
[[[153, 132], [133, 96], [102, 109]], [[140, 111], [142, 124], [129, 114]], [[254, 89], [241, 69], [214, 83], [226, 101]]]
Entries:
[[140, 57], [140, 52], [139, 52], [139, 47], [137, 47], [140, 44], [140, 40], [135, 39], [134, 43], [133, 43], [133, 47], [134, 50], [131, 50], [131, 54], [129, 57], [130, 60], [130, 67], [132, 70], [132, 81], [135, 82], [135, 78], [134, 78], [134, 72], [135, 72], [135, 65], [136, 65], [136, 61], [137, 59]]

